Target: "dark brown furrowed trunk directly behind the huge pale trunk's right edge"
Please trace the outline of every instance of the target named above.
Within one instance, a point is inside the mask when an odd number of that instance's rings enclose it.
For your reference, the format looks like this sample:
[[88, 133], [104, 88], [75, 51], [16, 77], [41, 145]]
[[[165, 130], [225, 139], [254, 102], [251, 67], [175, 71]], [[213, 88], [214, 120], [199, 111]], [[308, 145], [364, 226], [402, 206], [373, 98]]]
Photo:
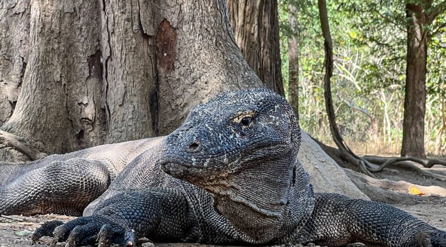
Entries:
[[268, 88], [284, 95], [277, 4], [276, 0], [227, 0], [235, 40], [245, 60]]

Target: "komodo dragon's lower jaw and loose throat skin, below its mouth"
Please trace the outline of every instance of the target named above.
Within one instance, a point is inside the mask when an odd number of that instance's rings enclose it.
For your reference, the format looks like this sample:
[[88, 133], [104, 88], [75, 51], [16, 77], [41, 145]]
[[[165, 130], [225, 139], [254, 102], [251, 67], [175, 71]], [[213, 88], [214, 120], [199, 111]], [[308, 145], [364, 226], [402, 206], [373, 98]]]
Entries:
[[[271, 157], [269, 161], [239, 164], [236, 172], [210, 172], [178, 163], [162, 164], [175, 178], [207, 190], [214, 198], [215, 210], [240, 230], [252, 244], [267, 243], [277, 236], [288, 215], [296, 158]], [[207, 174], [216, 174], [207, 176]]]

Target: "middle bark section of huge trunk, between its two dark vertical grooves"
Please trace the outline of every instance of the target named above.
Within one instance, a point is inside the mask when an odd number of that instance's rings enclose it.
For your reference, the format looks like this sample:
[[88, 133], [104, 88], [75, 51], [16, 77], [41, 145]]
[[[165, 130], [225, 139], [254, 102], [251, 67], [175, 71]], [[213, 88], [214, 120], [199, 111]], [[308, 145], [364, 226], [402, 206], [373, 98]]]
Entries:
[[[156, 44], [151, 1], [100, 1], [105, 143], [156, 136]], [[101, 25], [98, 25], [101, 23]]]

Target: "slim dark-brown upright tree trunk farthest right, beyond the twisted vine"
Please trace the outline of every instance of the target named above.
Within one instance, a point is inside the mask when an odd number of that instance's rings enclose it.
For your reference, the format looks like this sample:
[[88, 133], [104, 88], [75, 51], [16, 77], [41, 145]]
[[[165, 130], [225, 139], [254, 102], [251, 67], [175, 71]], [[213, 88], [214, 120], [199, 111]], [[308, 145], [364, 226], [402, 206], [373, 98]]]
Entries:
[[426, 16], [421, 4], [406, 4], [407, 57], [406, 95], [404, 97], [404, 121], [401, 156], [425, 158], [424, 115], [426, 112]]

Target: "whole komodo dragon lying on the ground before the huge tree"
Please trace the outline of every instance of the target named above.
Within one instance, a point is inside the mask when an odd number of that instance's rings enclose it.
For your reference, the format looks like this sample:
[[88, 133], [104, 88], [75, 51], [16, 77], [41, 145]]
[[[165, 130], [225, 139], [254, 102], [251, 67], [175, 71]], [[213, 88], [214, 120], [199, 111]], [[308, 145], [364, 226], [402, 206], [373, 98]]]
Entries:
[[51, 246], [125, 246], [147, 237], [446, 247], [446, 232], [397, 208], [314, 193], [296, 157], [300, 139], [296, 116], [278, 94], [226, 92], [194, 107], [166, 137], [4, 165], [14, 175], [0, 181], [0, 213], [83, 211], [36, 230], [32, 240], [51, 236]]

